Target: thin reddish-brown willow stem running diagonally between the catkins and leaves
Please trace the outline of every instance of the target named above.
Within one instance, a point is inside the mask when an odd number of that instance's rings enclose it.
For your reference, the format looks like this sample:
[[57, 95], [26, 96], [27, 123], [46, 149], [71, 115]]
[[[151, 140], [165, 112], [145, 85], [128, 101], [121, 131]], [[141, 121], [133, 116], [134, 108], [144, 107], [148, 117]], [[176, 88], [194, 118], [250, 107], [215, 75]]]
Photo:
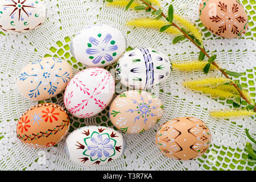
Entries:
[[[140, 0], [140, 1], [142, 1], [143, 3], [145, 3], [145, 4], [146, 4], [149, 8], [151, 8], [152, 10], [157, 11], [153, 6], [151, 6], [151, 5], [150, 5], [149, 3], [147, 3], [146, 1], [144, 1], [144, 0]], [[161, 15], [162, 15], [164, 18], [166, 18], [166, 15], [164, 15], [163, 12], [161, 13]], [[208, 58], [210, 57], [210, 56], [208, 55], [208, 53], [205, 51], [205, 49], [204, 49], [204, 48], [201, 48], [200, 46], [198, 46], [198, 45], [195, 43], [195, 41], [194, 41], [190, 36], [188, 36], [183, 30], [181, 30], [181, 28], [180, 28], [179, 26], [177, 26], [177, 24], [175, 24], [175, 23], [172, 22], [172, 26], [175, 26], [179, 31], [181, 31], [182, 34], [185, 36], [185, 38], [187, 38], [187, 39], [190, 40], [193, 44], [195, 44], [195, 46], [196, 46], [197, 48], [199, 48], [200, 51], [202, 51], [202, 52], [205, 54], [205, 56], [207, 56]], [[226, 78], [229, 78], [229, 79], [230, 79], [230, 77], [228, 76], [228, 74], [227, 74], [223, 69], [221, 69], [215, 61], [213, 61], [211, 64], [214, 65]], [[251, 104], [251, 102], [247, 99], [247, 97], [245, 96], [245, 94], [243, 94], [242, 90], [240, 90], [240, 88], [238, 88], [237, 84], [234, 83], [234, 82], [232, 82], [231, 84], [232, 84], [232, 85], [237, 89], [237, 91], [240, 93], [240, 97], [242, 97], [248, 104]], [[253, 110], [256, 112], [256, 106], [254, 106], [254, 109], [253, 109]]]

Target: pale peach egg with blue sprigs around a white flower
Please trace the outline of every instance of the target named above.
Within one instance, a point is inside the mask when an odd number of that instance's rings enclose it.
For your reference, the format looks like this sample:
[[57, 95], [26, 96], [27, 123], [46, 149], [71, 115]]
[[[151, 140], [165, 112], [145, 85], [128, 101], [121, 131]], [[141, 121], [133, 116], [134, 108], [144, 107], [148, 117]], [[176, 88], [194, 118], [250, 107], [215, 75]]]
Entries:
[[72, 67], [56, 57], [31, 61], [19, 73], [17, 85], [20, 93], [30, 100], [42, 101], [56, 96], [72, 77]]

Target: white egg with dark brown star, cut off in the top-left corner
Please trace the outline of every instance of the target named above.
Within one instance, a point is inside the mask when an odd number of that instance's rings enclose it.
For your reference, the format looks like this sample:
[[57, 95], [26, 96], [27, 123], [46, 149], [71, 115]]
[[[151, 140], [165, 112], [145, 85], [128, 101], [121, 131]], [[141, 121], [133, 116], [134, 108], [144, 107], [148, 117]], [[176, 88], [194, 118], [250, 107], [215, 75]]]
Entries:
[[46, 20], [46, 5], [38, 0], [0, 1], [0, 31], [21, 33], [34, 30]]

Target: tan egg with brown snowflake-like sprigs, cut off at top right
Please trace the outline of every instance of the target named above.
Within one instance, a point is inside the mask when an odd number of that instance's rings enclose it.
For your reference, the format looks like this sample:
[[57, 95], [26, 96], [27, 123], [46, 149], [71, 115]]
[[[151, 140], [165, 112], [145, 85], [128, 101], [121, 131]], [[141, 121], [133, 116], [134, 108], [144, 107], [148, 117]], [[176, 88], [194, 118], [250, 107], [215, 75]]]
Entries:
[[238, 38], [249, 27], [246, 11], [237, 0], [203, 0], [199, 17], [210, 32], [222, 38]]

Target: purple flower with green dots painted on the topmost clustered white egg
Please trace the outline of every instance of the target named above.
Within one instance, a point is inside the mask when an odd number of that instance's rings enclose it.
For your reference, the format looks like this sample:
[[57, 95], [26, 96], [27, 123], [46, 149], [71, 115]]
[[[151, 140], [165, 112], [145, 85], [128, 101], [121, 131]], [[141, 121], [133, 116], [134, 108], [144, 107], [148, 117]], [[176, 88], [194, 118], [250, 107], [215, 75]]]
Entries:
[[107, 34], [104, 39], [101, 34], [97, 36], [97, 39], [93, 37], [89, 38], [88, 48], [86, 49], [86, 53], [91, 55], [89, 59], [92, 59], [92, 63], [94, 64], [100, 62], [104, 64], [106, 61], [112, 61], [114, 59], [113, 56], [117, 55], [115, 51], [118, 49], [118, 46], [114, 45], [115, 41], [112, 40], [112, 35]]

